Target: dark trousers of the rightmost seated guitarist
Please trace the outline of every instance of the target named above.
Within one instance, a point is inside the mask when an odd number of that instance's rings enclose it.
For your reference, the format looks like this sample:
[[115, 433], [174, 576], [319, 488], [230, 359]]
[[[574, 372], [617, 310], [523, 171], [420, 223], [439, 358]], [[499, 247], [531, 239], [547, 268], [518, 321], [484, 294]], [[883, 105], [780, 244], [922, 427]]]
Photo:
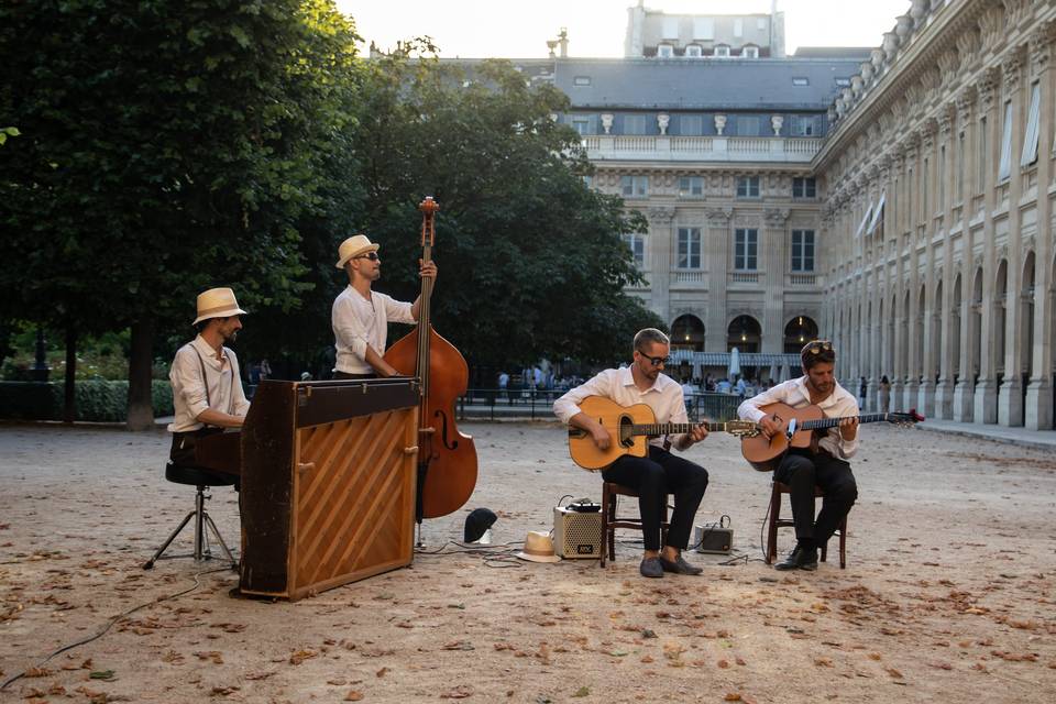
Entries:
[[[828, 542], [858, 498], [858, 484], [850, 464], [822, 452], [789, 452], [773, 479], [789, 486], [796, 539], [813, 539], [817, 547]], [[814, 519], [815, 486], [825, 494], [817, 520]]]

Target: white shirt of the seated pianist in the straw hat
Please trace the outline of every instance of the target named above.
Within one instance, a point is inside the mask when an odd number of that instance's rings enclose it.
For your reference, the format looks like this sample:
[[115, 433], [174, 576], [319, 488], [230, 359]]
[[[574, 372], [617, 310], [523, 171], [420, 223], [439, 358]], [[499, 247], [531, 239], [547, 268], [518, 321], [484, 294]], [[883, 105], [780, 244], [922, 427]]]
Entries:
[[239, 375], [239, 358], [228, 348], [221, 348], [218, 360], [217, 351], [201, 336], [179, 348], [168, 380], [173, 384], [173, 406], [176, 409], [176, 418], [168, 426], [169, 432], [198, 430], [204, 426], [197, 420], [198, 415], [207, 408], [231, 416], [245, 416], [250, 410]]

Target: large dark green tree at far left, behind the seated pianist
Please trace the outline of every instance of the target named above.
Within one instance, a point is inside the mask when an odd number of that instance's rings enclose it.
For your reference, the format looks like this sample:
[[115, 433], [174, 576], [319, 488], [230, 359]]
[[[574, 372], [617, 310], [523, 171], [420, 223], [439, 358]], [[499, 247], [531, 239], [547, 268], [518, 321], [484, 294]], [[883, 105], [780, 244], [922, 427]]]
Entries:
[[[157, 331], [195, 295], [295, 308], [298, 227], [351, 187], [354, 32], [329, 0], [42, 0], [0, 6], [0, 294], [67, 330], [131, 327], [130, 427], [153, 422]], [[172, 351], [166, 351], [170, 354]]]

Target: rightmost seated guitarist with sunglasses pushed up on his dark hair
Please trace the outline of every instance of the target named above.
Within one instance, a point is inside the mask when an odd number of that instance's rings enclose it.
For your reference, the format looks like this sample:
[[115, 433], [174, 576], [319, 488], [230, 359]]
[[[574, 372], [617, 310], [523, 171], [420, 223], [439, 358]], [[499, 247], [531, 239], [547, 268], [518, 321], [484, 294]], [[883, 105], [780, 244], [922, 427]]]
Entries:
[[[747, 399], [737, 415], [762, 426], [767, 438], [788, 430], [788, 419], [767, 416], [760, 407], [780, 403], [792, 408], [817, 406], [827, 418], [846, 417], [838, 427], [815, 430], [810, 449], [791, 448], [773, 479], [788, 484], [795, 524], [795, 549], [778, 570], [816, 570], [817, 549], [828, 539], [858, 498], [855, 475], [847, 462], [858, 450], [858, 402], [836, 383], [836, 351], [827, 340], [814, 340], [800, 352], [803, 376], [790, 380]], [[815, 447], [816, 446], [816, 447]], [[822, 510], [814, 518], [814, 487], [821, 487]]]

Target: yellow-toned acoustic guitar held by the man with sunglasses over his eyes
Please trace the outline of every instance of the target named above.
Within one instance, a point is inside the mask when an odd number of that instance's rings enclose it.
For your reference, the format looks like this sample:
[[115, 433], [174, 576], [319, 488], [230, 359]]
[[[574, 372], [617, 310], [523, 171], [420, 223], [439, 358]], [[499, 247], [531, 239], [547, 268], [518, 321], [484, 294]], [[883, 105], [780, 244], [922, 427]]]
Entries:
[[759, 427], [750, 420], [729, 422], [657, 422], [652, 408], [646, 404], [620, 406], [603, 396], [587, 396], [579, 404], [580, 410], [602, 425], [613, 442], [607, 450], [594, 444], [586, 430], [569, 428], [569, 453], [572, 461], [591, 472], [603, 470], [625, 454], [644, 458], [648, 453], [650, 437], [681, 435], [697, 426], [707, 426], [708, 432], [729, 432], [735, 436], [758, 435]]

